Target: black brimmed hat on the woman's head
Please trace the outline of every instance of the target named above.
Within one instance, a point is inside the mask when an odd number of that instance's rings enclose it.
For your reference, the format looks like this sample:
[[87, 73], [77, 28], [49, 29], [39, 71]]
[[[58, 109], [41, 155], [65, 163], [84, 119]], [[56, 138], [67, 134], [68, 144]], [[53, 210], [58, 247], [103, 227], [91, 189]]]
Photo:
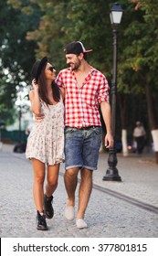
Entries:
[[31, 71], [34, 79], [38, 80], [42, 69], [47, 64], [47, 61], [48, 61], [47, 57], [44, 57], [43, 59], [37, 59], [37, 61], [34, 63], [32, 71]]

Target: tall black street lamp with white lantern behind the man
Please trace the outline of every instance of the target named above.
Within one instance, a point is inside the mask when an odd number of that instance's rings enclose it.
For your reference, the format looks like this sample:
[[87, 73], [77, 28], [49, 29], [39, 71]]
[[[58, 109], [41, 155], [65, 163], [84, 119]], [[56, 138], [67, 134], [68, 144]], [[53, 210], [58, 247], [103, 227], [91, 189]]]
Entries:
[[106, 175], [103, 176], [102, 180], [113, 180], [121, 181], [121, 176], [119, 176], [118, 169], [116, 165], [118, 163], [116, 154], [116, 141], [115, 141], [115, 126], [116, 126], [116, 92], [117, 92], [117, 32], [118, 26], [121, 23], [122, 16], [121, 5], [115, 3], [111, 8], [111, 26], [113, 33], [113, 74], [111, 81], [111, 118], [112, 118], [112, 134], [113, 134], [113, 147], [109, 150], [108, 164], [109, 168]]

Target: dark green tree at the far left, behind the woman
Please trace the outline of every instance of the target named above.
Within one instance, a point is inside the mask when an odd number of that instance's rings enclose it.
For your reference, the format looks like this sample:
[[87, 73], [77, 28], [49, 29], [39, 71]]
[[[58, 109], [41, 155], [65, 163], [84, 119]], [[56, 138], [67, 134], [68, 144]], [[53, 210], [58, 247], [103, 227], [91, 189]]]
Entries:
[[35, 60], [36, 43], [26, 40], [26, 31], [36, 28], [39, 9], [35, 8], [35, 14], [26, 15], [7, 1], [0, 3], [0, 116], [6, 123], [14, 119], [16, 87], [30, 83], [30, 63]]

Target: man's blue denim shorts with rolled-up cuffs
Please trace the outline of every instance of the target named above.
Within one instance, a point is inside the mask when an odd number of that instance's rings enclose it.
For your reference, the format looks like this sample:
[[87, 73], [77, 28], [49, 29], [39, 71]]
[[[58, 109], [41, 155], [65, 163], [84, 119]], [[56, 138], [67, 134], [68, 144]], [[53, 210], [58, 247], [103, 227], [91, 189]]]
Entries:
[[65, 167], [96, 170], [102, 138], [101, 126], [65, 129]]

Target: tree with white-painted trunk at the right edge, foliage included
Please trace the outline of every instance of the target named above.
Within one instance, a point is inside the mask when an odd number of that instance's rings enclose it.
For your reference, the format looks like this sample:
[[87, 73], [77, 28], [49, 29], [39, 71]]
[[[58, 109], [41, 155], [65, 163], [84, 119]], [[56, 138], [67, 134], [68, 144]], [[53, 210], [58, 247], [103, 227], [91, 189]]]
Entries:
[[[158, 48], [157, 1], [132, 0], [131, 2], [136, 3], [136, 18], [125, 30], [126, 39], [131, 44], [123, 50], [122, 58], [126, 59], [126, 62], [121, 64], [121, 74], [124, 75], [120, 76], [120, 84], [121, 86], [126, 84], [134, 94], [146, 95], [149, 125], [158, 163], [158, 115], [155, 107], [157, 101], [155, 92], [158, 91], [155, 76], [158, 68], [156, 54]], [[130, 79], [127, 77], [129, 72], [131, 73]]]

